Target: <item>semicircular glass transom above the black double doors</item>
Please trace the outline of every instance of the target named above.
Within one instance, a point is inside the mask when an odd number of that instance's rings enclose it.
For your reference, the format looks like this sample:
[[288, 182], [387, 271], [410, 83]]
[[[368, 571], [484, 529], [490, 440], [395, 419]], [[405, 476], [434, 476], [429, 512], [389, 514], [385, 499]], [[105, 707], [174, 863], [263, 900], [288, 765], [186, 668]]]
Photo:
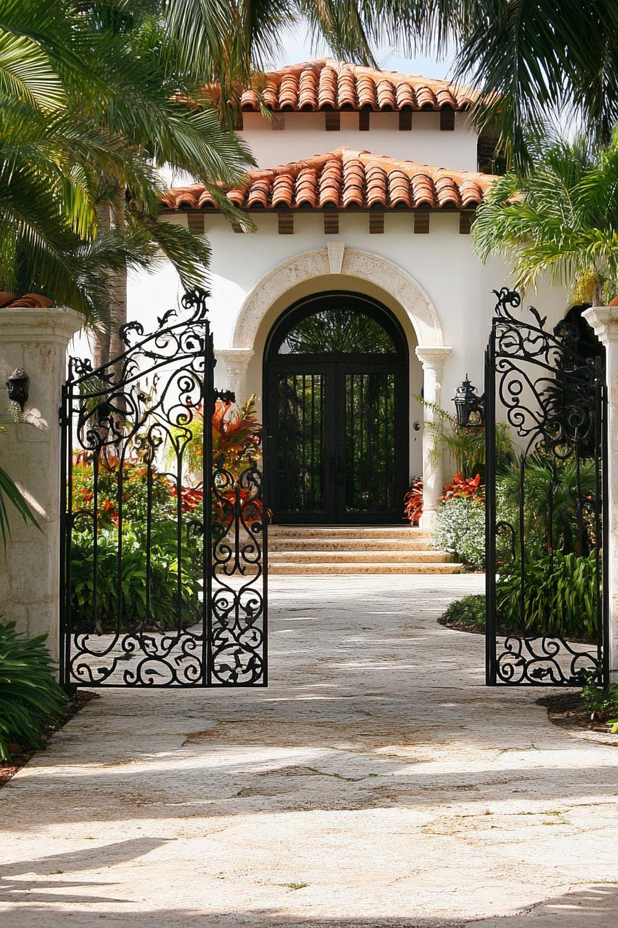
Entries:
[[337, 306], [310, 313], [284, 331], [278, 354], [396, 354], [390, 333], [373, 316]]

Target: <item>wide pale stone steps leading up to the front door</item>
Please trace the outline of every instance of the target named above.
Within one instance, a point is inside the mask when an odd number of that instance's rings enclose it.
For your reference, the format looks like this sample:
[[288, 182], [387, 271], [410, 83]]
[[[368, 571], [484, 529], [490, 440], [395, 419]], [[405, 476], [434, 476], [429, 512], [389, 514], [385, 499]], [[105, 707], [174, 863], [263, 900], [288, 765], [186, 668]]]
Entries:
[[406, 525], [271, 525], [270, 574], [457, 574], [461, 565]]

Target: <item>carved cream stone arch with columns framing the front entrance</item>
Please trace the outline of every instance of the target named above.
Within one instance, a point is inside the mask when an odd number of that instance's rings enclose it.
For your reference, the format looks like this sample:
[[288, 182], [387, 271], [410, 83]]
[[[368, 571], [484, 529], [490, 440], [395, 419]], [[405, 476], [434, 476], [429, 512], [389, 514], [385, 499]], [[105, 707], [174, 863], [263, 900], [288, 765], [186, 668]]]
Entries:
[[[423, 396], [439, 405], [442, 393], [444, 361], [451, 349], [444, 344], [442, 324], [429, 295], [421, 284], [398, 264], [372, 251], [347, 248], [334, 242], [324, 248], [303, 251], [277, 264], [246, 295], [233, 329], [229, 349], [217, 352], [226, 364], [234, 389], [243, 393], [246, 365], [253, 355], [259, 327], [271, 306], [298, 284], [329, 275], [345, 275], [370, 283], [395, 300], [408, 316], [416, 333], [416, 354], [423, 364]], [[423, 429], [423, 519], [428, 526], [434, 519], [438, 497], [442, 492], [442, 464], [432, 455], [432, 434], [428, 427], [432, 410], [425, 407]]]

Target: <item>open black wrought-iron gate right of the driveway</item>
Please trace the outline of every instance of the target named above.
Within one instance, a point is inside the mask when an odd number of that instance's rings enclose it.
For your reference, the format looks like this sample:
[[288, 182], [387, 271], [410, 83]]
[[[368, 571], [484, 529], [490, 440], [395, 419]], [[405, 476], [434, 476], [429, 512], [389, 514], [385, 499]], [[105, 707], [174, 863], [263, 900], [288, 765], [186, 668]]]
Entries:
[[[605, 375], [578, 329], [499, 292], [486, 351], [486, 682], [609, 679]], [[504, 459], [509, 432], [514, 459]]]

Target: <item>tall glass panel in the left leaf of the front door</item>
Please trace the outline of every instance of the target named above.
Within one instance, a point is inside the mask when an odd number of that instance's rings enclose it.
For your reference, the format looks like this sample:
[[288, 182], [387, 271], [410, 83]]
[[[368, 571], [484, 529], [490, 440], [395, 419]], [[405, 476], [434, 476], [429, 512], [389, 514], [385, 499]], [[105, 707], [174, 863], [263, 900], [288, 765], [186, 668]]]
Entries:
[[280, 374], [277, 383], [277, 509], [324, 509], [324, 380]]

